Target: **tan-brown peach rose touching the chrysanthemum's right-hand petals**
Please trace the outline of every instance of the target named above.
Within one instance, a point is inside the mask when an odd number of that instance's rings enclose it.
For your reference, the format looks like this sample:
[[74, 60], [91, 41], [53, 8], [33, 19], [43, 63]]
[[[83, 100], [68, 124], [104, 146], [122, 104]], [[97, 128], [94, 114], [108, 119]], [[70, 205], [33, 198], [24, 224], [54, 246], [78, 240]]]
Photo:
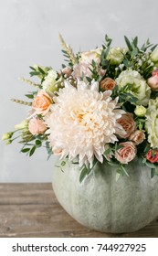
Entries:
[[121, 124], [121, 127], [124, 129], [126, 134], [119, 134], [121, 138], [125, 139], [128, 138], [135, 130], [136, 130], [136, 123], [132, 118], [132, 113], [127, 112], [121, 115], [121, 118], [117, 120], [117, 123]]

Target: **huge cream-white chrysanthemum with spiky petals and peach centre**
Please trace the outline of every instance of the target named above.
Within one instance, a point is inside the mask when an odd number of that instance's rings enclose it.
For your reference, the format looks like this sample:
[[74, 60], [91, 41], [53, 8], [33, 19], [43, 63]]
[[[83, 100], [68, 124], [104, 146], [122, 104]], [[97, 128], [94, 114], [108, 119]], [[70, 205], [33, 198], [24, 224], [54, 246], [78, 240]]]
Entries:
[[52, 151], [68, 156], [72, 161], [79, 157], [79, 165], [92, 166], [94, 156], [102, 162], [105, 145], [117, 141], [118, 129], [124, 133], [117, 119], [124, 113], [111, 91], [99, 92], [98, 82], [91, 85], [78, 81], [78, 88], [68, 82], [54, 99], [52, 113], [47, 116], [49, 141]]

